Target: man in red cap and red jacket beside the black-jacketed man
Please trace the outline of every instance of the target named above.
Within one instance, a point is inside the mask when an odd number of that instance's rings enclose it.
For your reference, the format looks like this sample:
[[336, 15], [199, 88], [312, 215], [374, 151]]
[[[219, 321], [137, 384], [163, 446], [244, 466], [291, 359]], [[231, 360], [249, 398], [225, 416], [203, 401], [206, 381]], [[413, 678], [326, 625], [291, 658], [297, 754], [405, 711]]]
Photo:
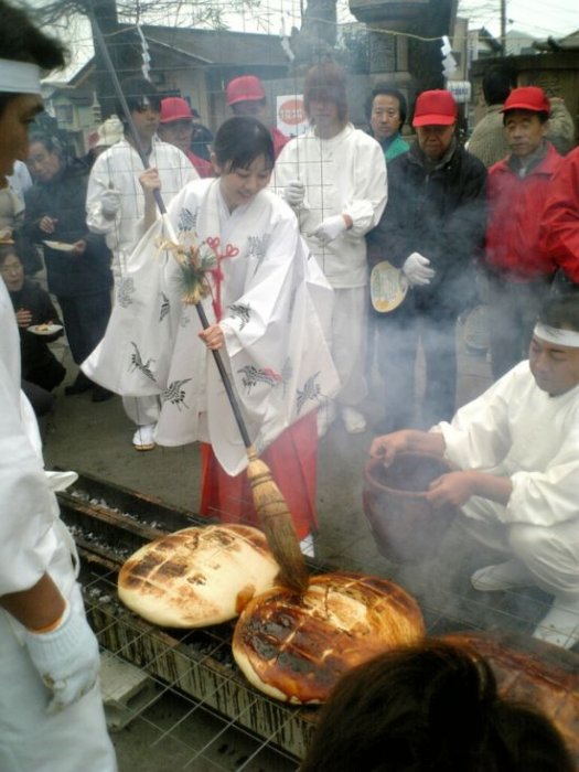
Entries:
[[489, 170], [490, 343], [496, 380], [524, 360], [555, 264], [539, 247], [549, 182], [561, 157], [546, 141], [550, 105], [537, 86], [514, 88], [503, 106], [511, 154]]

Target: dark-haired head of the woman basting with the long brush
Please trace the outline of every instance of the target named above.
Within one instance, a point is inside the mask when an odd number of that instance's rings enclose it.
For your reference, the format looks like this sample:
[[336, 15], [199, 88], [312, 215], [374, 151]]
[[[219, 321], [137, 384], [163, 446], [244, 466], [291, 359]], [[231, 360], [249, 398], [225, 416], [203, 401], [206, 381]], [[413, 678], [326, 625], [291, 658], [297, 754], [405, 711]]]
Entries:
[[222, 195], [233, 212], [269, 184], [275, 163], [271, 135], [257, 118], [229, 118], [215, 136], [211, 159]]

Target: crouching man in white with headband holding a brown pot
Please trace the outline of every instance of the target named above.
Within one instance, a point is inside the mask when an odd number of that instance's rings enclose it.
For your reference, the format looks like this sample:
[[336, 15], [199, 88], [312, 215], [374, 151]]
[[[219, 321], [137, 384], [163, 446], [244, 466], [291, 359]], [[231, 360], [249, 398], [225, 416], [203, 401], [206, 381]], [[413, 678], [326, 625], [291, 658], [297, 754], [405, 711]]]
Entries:
[[538, 586], [554, 596], [534, 637], [565, 648], [579, 642], [579, 296], [548, 299], [528, 361], [521, 362], [451, 422], [374, 440], [373, 457], [444, 457], [457, 471], [427, 498], [460, 507], [469, 532], [505, 555], [476, 570], [486, 592]]

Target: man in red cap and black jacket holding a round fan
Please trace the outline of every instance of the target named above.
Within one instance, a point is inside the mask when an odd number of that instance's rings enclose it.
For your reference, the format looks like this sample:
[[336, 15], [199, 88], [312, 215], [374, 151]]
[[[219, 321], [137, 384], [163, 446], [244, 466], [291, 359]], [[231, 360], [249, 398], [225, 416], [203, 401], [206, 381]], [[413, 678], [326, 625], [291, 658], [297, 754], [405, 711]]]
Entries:
[[[388, 206], [368, 234], [371, 262], [401, 269], [409, 291], [378, 320], [378, 367], [386, 386], [380, 431], [429, 427], [455, 407], [455, 324], [475, 302], [474, 256], [485, 228], [486, 170], [459, 146], [458, 107], [448, 90], [416, 100], [418, 141], [388, 163]], [[421, 416], [415, 416], [418, 343], [426, 362]]]

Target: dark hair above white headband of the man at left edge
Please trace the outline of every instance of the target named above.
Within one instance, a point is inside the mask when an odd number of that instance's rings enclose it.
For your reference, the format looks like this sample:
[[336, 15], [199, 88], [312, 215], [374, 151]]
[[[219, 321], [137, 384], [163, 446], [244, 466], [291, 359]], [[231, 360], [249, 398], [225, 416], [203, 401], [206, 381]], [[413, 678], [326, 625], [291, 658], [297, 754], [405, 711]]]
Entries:
[[[0, 0], [0, 52], [12, 62], [30, 62], [42, 69], [55, 69], [65, 64], [66, 49], [57, 40], [45, 35], [29, 19], [25, 11]], [[0, 92], [0, 116], [11, 99], [19, 94]]]

